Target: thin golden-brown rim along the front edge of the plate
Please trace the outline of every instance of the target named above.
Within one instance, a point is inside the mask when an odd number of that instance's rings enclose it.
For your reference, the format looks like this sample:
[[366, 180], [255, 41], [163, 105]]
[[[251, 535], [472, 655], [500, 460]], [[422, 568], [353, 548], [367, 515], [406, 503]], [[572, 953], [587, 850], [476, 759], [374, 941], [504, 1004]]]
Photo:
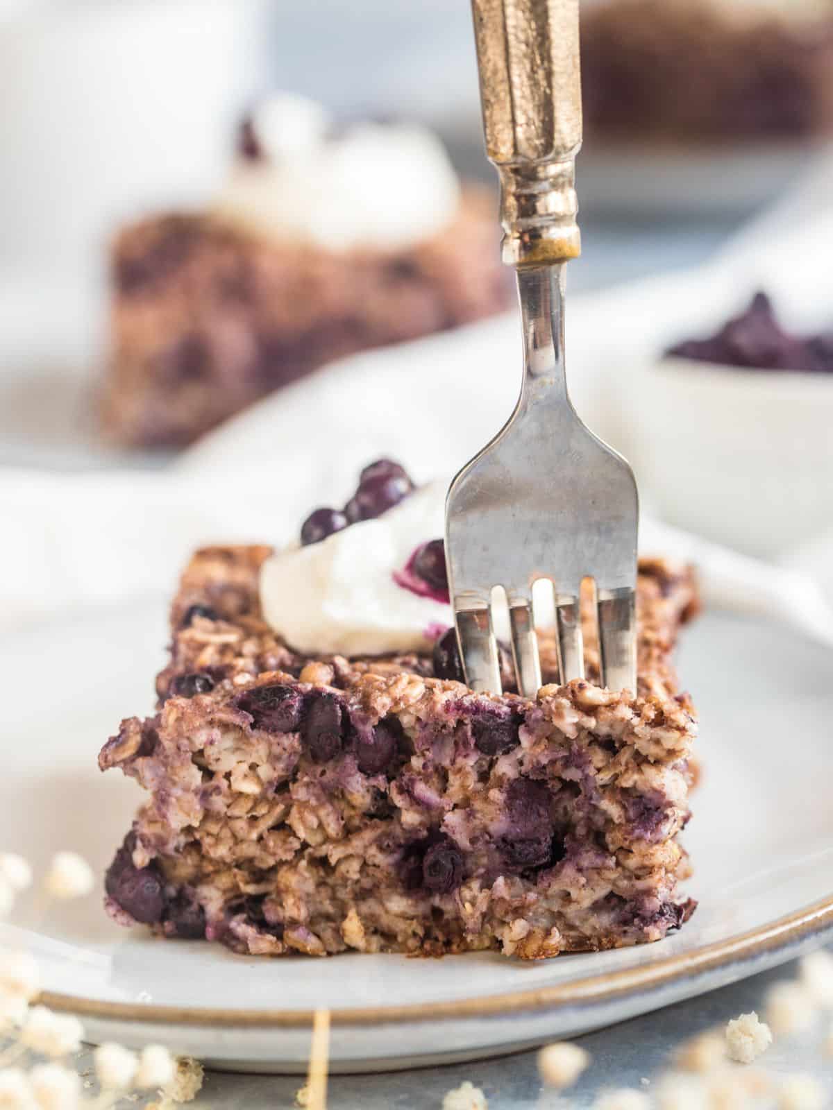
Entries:
[[[486, 995], [483, 998], [468, 998], [456, 1002], [414, 1002], [409, 1006], [333, 1009], [330, 1011], [330, 1017], [335, 1026], [369, 1026], [383, 1022], [495, 1017], [569, 1005], [599, 1005], [634, 991], [656, 990], [680, 979], [704, 975], [731, 963], [745, 963], [760, 959], [779, 949], [789, 949], [827, 929], [833, 930], [833, 896], [729, 940], [704, 945], [691, 952], [671, 956], [646, 967], [590, 976], [554, 987]], [[71, 1011], [82, 1017], [223, 1028], [309, 1027], [312, 1025], [314, 1013], [313, 1010], [223, 1010], [187, 1006], [144, 1006], [78, 998], [52, 991], [44, 991], [40, 1000], [54, 1010]]]

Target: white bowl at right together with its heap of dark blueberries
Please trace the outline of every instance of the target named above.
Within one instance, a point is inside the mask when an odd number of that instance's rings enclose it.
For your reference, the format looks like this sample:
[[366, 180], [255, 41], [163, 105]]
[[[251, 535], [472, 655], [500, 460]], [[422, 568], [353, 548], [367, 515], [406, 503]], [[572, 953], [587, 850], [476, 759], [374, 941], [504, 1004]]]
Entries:
[[833, 522], [832, 324], [759, 291], [634, 367], [616, 445], [663, 519], [764, 558]]

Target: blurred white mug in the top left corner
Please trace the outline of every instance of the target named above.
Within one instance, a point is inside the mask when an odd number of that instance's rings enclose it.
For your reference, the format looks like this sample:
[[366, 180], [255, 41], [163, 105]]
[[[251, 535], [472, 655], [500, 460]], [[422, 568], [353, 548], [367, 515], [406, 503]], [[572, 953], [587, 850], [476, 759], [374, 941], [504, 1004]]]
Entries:
[[261, 83], [260, 0], [0, 0], [0, 262], [94, 269], [119, 222], [198, 204]]

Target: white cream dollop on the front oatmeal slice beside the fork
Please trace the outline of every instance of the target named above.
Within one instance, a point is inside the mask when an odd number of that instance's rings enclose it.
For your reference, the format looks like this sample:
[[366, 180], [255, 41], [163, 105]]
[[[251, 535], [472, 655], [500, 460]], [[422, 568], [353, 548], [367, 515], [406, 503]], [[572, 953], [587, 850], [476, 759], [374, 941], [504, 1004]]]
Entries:
[[451, 606], [397, 579], [416, 548], [443, 535], [446, 490], [432, 482], [375, 519], [277, 552], [260, 575], [267, 622], [310, 655], [431, 650], [453, 622]]

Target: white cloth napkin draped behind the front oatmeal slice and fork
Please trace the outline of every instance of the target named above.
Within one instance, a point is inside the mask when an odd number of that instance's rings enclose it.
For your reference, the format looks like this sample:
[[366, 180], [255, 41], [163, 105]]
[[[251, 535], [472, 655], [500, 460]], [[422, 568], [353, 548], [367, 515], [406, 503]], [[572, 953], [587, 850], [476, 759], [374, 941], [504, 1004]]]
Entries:
[[[779, 238], [779, 226], [777, 212], [770, 214], [696, 271], [571, 299], [571, 392], [591, 426], [610, 431], [605, 382], [623, 351], [646, 351], [699, 326], [726, 297], [734, 304], [763, 283], [783, 294], [787, 314], [792, 306], [806, 317], [810, 305], [820, 321], [826, 310], [829, 322], [829, 283], [820, 291], [811, 265], [785, 272], [784, 260], [802, 243], [815, 246], [805, 260], [830, 255], [833, 214], [792, 236]], [[830, 244], [824, 252], [820, 241]], [[399, 458], [418, 480], [453, 473], [511, 412], [519, 374], [520, 331], [508, 315], [334, 363], [230, 421], [164, 471], [0, 471], [0, 620], [11, 627], [61, 609], [170, 594], [195, 546], [284, 543], [313, 507], [343, 503], [361, 466], [381, 455]], [[697, 565], [707, 603], [791, 622], [833, 646], [833, 608], [806, 573], [833, 553], [833, 537], [820, 544], [821, 556], [804, 549], [795, 567], [775, 567], [650, 515], [641, 533], [643, 552]]]

